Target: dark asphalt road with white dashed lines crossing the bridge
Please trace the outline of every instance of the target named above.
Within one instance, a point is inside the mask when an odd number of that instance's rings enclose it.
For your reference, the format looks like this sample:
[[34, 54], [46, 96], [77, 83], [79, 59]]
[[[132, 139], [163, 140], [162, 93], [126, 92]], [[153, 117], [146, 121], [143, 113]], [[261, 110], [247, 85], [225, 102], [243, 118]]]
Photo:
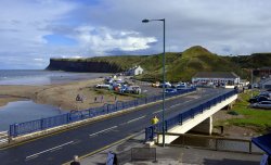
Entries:
[[[225, 89], [204, 89], [196, 93], [166, 101], [165, 117], [227, 92]], [[105, 118], [54, 136], [44, 137], [21, 145], [0, 150], [1, 165], [57, 165], [68, 162], [73, 155], [85, 155], [142, 131], [151, 118], [162, 118], [162, 103], [141, 107], [128, 114]]]

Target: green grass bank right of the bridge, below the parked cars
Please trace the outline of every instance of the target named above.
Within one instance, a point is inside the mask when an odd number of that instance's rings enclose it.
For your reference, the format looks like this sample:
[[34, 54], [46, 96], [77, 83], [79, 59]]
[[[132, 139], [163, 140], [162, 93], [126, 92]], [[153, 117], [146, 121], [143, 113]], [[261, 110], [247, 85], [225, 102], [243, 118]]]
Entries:
[[[254, 96], [258, 92], [255, 91]], [[258, 132], [266, 132], [271, 129], [271, 110], [251, 109], [247, 100], [250, 98], [250, 92], [241, 93], [238, 101], [234, 104], [232, 112], [243, 115], [243, 118], [231, 118], [227, 123], [229, 125], [254, 128]], [[231, 113], [232, 113], [231, 112]]]

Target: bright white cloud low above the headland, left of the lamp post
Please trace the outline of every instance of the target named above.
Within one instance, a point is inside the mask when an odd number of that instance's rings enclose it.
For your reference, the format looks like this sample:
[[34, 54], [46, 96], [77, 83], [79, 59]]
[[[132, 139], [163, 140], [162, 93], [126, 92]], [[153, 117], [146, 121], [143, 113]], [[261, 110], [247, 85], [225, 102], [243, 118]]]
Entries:
[[115, 49], [122, 51], [147, 49], [149, 43], [157, 41], [154, 37], [142, 37], [137, 31], [113, 30], [106, 27], [80, 26], [75, 31], [74, 37], [81, 47], [101, 55]]

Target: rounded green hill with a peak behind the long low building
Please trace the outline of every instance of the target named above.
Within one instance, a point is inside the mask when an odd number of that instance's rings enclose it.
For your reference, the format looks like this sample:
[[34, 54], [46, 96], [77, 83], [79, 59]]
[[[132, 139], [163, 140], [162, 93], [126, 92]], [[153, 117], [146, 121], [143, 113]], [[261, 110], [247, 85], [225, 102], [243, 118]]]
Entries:
[[[153, 67], [144, 67], [144, 65]], [[155, 65], [154, 65], [155, 64]], [[141, 63], [147, 73], [138, 78], [144, 80], [162, 80], [162, 54], [149, 56]], [[195, 46], [182, 53], [166, 53], [166, 79], [170, 81], [186, 81], [201, 71], [232, 72], [240, 74], [241, 67], [230, 60], [209, 52], [207, 49]]]

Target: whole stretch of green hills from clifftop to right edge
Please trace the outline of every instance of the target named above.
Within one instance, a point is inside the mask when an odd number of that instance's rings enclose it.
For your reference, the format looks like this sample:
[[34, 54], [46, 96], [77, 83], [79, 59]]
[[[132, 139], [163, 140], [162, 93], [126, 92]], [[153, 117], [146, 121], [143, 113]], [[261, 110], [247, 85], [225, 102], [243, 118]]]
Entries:
[[[116, 71], [127, 71], [134, 65], [141, 65], [144, 74], [138, 79], [156, 81], [162, 80], [163, 54], [154, 55], [121, 55], [95, 56], [89, 59], [54, 59], [52, 61], [68, 61], [90, 65], [93, 63], [108, 64], [117, 67]], [[79, 65], [79, 64], [78, 64]], [[99, 66], [99, 65], [98, 65]], [[235, 72], [242, 78], [249, 77], [249, 68], [271, 66], [271, 53], [255, 53], [251, 55], [222, 56], [209, 52], [207, 49], [195, 46], [183, 52], [166, 53], [166, 79], [169, 81], [191, 80], [197, 72]], [[91, 67], [88, 66], [88, 67]]]

